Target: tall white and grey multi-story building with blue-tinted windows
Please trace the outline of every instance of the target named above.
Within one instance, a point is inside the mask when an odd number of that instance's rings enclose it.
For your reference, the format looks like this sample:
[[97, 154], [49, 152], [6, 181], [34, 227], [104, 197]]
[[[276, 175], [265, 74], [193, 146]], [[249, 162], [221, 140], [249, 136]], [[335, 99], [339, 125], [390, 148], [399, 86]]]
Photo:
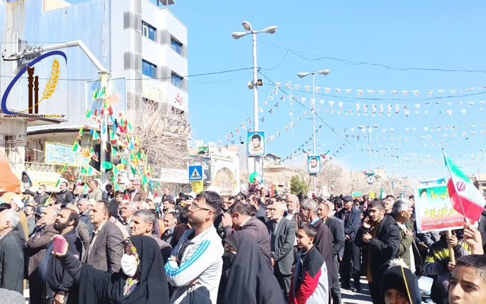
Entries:
[[[118, 96], [115, 112], [127, 110], [130, 103], [156, 102], [166, 105], [169, 113], [187, 115], [187, 28], [167, 8], [169, 4], [174, 1], [0, 1], [0, 42], [19, 42], [13, 51], [76, 41], [85, 46], [74, 43], [63, 48], [67, 53], [67, 71], [61, 76], [67, 90], [65, 105], [39, 105], [40, 112], [58, 107], [65, 118], [35, 126], [16, 122], [22, 126], [15, 128], [11, 140], [24, 145], [22, 153], [27, 151], [27, 155], [17, 155], [17, 162], [24, 158], [44, 162], [46, 142], [72, 145], [81, 126], [96, 128], [85, 113], [99, 81], [100, 66], [109, 72], [108, 86]], [[1, 71], [15, 74], [15, 70]], [[3, 94], [6, 80], [0, 81]], [[26, 94], [17, 99], [26, 99]], [[12, 128], [0, 128], [7, 154], [20, 151], [18, 146], [5, 144]], [[87, 140], [83, 137], [81, 145]]]

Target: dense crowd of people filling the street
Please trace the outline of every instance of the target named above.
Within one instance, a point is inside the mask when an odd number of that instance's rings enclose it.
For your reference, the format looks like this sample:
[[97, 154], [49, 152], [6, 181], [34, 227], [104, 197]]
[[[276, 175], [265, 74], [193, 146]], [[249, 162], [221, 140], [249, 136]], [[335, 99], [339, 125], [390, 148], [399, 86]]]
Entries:
[[419, 234], [413, 196], [251, 185], [149, 199], [138, 180], [122, 186], [40, 185], [1, 203], [0, 303], [24, 303], [28, 289], [33, 304], [340, 304], [342, 289], [362, 292], [362, 276], [373, 303], [421, 303], [421, 276], [435, 303], [486, 301], [484, 222]]

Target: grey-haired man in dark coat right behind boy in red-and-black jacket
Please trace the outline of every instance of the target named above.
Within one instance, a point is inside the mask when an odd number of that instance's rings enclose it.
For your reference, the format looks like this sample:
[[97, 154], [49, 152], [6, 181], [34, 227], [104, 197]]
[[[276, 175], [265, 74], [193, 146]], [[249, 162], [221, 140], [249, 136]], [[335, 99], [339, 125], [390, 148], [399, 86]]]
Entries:
[[319, 219], [317, 211], [319, 206], [313, 199], [305, 199], [301, 202], [299, 216], [302, 222], [310, 223], [317, 229], [317, 237], [314, 239], [314, 246], [321, 253], [328, 270], [328, 286], [332, 285], [333, 276], [333, 234], [329, 228]]

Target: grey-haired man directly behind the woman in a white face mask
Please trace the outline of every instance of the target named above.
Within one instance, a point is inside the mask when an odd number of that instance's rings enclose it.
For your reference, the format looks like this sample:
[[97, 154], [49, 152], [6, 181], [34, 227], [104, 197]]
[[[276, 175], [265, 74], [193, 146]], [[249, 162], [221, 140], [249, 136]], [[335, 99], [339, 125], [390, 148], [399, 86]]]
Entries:
[[165, 264], [167, 259], [169, 259], [172, 248], [169, 244], [162, 241], [162, 239], [153, 235], [153, 229], [157, 220], [157, 214], [153, 210], [137, 210], [133, 214], [133, 221], [130, 223], [130, 235], [145, 235], [146, 237], [155, 239]]

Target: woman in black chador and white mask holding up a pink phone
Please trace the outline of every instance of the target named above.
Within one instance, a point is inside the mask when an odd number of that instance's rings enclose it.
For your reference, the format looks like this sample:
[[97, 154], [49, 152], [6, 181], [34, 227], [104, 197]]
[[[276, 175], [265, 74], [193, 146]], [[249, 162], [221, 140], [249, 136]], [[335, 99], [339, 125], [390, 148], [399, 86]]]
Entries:
[[67, 246], [64, 252], [53, 253], [78, 285], [79, 304], [169, 303], [164, 264], [156, 241], [145, 236], [130, 237], [124, 240], [124, 248], [117, 273], [100, 271], [80, 262], [67, 253]]

